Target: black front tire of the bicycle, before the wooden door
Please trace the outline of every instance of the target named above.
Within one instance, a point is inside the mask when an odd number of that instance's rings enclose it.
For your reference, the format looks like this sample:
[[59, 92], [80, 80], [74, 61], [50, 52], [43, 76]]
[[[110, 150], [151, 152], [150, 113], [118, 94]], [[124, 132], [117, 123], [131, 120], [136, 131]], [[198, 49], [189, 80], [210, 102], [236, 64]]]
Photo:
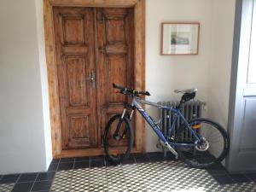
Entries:
[[[106, 158], [112, 165], [118, 165], [123, 160], [126, 160], [129, 157], [129, 155], [131, 153], [131, 148], [133, 145], [133, 140], [134, 140], [134, 134], [133, 134], [132, 127], [131, 127], [131, 120], [128, 119], [126, 117], [126, 115], [123, 119], [121, 119], [121, 117], [122, 117], [122, 114], [116, 114], [111, 119], [108, 120], [108, 124], [106, 125], [105, 131], [104, 131], [104, 136], [103, 136], [103, 147], [104, 147], [104, 151], [106, 154]], [[128, 134], [130, 137], [128, 137], [128, 139], [127, 139], [127, 149], [125, 150], [125, 154], [118, 154], [116, 156], [113, 156], [113, 154], [111, 154], [111, 152], [110, 152], [108, 135], [109, 134], [111, 135], [111, 125], [113, 125], [113, 123], [116, 120], [122, 120], [121, 124], [125, 123], [125, 129], [126, 129], [126, 131], [128, 131]]]

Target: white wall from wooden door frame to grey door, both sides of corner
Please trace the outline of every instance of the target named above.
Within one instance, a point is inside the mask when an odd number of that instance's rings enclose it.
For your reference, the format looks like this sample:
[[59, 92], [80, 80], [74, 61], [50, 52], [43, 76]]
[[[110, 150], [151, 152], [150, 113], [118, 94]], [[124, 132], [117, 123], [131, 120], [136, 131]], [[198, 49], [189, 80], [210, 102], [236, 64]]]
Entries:
[[[149, 101], [177, 100], [175, 89], [197, 88], [196, 98], [207, 102], [205, 116], [227, 125], [230, 92], [234, 0], [146, 1], [146, 89]], [[201, 23], [199, 55], [160, 55], [160, 23]], [[157, 119], [158, 111], [148, 107]], [[158, 142], [146, 128], [146, 150]]]

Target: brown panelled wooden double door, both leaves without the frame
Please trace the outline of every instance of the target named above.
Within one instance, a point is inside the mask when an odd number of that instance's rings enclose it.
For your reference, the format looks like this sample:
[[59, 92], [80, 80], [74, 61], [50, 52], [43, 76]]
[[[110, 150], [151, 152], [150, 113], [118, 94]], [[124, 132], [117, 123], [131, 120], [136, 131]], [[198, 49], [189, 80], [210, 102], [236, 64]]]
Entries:
[[55, 7], [55, 55], [63, 150], [101, 148], [108, 119], [133, 87], [133, 9]]

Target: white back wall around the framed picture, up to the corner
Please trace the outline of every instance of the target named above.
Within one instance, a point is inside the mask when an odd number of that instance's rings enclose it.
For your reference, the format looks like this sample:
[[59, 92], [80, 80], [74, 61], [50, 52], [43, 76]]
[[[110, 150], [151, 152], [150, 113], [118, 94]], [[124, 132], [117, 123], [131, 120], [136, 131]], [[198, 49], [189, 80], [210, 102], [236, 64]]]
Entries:
[[[197, 88], [197, 98], [208, 102], [208, 69], [211, 54], [211, 3], [206, 0], [146, 1], [146, 89], [150, 101], [177, 100], [175, 89]], [[201, 23], [199, 55], [160, 55], [160, 23], [196, 21]], [[149, 110], [150, 109], [150, 110]], [[157, 117], [154, 108], [148, 108]], [[154, 151], [157, 138], [146, 130], [146, 150]]]

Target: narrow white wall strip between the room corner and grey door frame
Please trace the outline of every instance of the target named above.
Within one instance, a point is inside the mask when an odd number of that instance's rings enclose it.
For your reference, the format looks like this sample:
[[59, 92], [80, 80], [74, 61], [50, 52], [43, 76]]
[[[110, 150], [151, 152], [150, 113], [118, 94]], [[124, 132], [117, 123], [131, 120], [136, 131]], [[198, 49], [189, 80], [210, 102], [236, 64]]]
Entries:
[[233, 50], [235, 0], [212, 1], [208, 115], [227, 128]]

